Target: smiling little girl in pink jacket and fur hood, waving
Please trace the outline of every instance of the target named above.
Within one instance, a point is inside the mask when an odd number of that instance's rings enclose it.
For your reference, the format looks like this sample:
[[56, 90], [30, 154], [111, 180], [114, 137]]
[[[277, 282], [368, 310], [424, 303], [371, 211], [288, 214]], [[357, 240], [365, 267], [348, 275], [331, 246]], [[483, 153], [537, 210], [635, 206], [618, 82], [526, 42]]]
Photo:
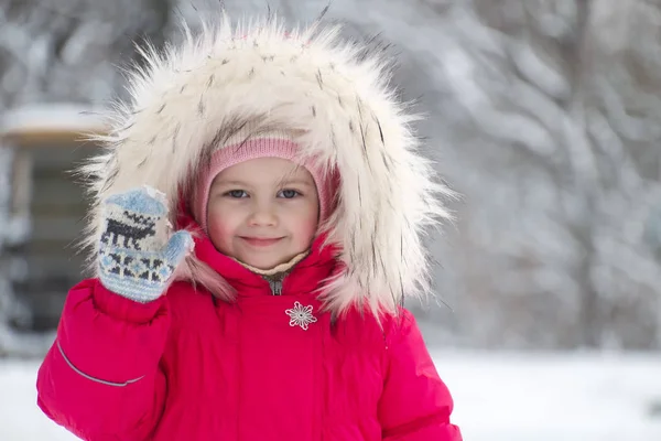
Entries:
[[85, 166], [39, 406], [85, 440], [459, 441], [404, 295], [447, 213], [386, 62], [229, 20], [147, 51]]

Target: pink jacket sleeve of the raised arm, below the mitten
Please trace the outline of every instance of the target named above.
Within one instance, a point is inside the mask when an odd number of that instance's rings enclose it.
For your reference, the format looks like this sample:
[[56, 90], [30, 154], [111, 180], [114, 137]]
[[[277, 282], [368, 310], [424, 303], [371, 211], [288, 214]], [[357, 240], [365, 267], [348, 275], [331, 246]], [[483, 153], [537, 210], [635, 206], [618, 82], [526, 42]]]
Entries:
[[74, 287], [37, 374], [37, 405], [85, 440], [145, 440], [165, 402], [159, 367], [170, 315], [164, 297], [137, 303], [96, 279]]

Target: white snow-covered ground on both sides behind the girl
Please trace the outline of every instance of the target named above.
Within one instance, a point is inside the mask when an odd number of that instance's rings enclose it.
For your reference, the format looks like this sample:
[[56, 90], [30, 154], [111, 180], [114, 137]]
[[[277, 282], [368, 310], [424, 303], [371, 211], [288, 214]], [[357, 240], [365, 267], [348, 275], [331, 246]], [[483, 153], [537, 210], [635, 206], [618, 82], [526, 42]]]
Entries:
[[[434, 359], [465, 441], [661, 440], [661, 354], [437, 352]], [[0, 362], [2, 441], [75, 440], [36, 408], [37, 366]]]

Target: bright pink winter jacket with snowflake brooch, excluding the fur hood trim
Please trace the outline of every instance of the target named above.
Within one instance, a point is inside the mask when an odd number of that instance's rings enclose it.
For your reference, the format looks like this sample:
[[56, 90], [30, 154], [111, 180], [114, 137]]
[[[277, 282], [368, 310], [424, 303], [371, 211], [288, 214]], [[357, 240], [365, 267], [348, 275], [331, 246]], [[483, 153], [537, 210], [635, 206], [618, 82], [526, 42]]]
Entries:
[[[236, 303], [185, 282], [148, 304], [80, 282], [39, 370], [39, 406], [94, 441], [459, 441], [410, 312], [380, 327], [367, 313], [319, 311], [310, 292], [336, 266], [329, 249], [317, 240], [275, 297], [198, 239]], [[307, 330], [290, 325], [296, 302], [317, 319]]]

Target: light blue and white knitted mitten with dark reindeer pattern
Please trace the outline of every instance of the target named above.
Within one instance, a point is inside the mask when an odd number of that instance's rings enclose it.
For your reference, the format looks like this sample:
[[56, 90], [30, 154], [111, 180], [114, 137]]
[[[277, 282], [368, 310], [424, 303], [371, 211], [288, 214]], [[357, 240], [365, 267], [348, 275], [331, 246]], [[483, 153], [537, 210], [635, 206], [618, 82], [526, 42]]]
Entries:
[[101, 283], [137, 302], [158, 299], [175, 268], [193, 249], [191, 234], [181, 230], [170, 240], [160, 237], [166, 225], [165, 196], [147, 186], [108, 197], [101, 209]]

